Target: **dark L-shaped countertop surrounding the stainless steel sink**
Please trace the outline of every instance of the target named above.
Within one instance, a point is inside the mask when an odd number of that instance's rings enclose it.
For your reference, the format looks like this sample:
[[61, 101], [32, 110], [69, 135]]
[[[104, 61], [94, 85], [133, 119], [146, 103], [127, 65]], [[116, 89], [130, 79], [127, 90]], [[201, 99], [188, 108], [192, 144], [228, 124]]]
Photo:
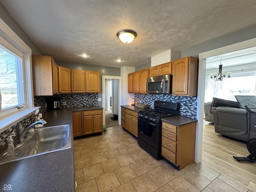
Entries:
[[[97, 110], [100, 106], [71, 107], [46, 111], [42, 118], [47, 121], [43, 127], [70, 125], [73, 134], [72, 112]], [[12, 192], [74, 192], [74, 147], [34, 157], [16, 160], [0, 165], [0, 186], [11, 186]], [[6, 189], [9, 188], [7, 187]]]

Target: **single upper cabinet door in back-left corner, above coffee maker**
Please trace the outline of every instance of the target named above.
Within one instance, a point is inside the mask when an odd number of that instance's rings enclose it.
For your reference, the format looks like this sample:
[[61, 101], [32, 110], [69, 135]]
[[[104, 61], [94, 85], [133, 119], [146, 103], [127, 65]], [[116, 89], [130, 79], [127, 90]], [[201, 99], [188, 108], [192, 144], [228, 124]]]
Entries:
[[59, 72], [59, 92], [70, 93], [70, 69], [58, 66]]

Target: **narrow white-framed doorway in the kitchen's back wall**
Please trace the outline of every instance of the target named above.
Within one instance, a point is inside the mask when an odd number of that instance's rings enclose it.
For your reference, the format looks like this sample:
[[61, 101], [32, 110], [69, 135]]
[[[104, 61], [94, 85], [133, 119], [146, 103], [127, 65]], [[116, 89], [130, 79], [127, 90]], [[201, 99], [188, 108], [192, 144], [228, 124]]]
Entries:
[[[121, 77], [102, 75], [103, 125], [121, 124]], [[115, 119], [117, 118], [117, 120]]]

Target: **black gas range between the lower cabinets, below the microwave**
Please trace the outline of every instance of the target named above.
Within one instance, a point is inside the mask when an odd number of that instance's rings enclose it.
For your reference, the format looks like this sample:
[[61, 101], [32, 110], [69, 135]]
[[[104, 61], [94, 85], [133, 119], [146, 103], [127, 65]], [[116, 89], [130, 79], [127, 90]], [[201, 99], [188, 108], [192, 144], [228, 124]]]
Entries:
[[178, 103], [155, 101], [154, 109], [138, 112], [138, 144], [154, 158], [161, 159], [161, 118], [178, 115]]

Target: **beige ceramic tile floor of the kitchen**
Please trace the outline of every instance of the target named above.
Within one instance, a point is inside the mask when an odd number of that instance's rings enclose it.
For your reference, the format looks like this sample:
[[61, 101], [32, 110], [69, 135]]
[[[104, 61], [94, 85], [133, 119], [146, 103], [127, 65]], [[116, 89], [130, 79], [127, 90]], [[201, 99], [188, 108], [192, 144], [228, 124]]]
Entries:
[[74, 140], [76, 192], [249, 192], [206, 165], [155, 160], [121, 126]]

